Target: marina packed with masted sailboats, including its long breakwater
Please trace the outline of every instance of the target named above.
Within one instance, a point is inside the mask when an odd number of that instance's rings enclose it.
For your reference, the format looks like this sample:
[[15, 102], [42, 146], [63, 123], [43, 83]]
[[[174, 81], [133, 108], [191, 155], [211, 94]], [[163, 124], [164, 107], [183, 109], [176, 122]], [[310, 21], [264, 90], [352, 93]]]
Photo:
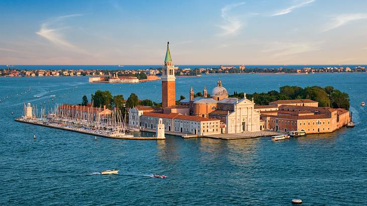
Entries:
[[[110, 111], [102, 108], [87, 108], [74, 110], [76, 108], [65, 105], [55, 105], [53, 112], [46, 114], [45, 109], [39, 110], [32, 107], [30, 103], [24, 105], [24, 116], [16, 118], [15, 121], [49, 127], [54, 129], [78, 132], [93, 136], [100, 136], [114, 139], [125, 140], [163, 140], [162, 137], [135, 137], [127, 134], [126, 125], [122, 114], [117, 111]], [[96, 112], [96, 110], [98, 110]], [[52, 111], [52, 109], [51, 109]], [[84, 112], [83, 112], [84, 111]], [[85, 112], [87, 111], [87, 112]], [[94, 111], [94, 112], [93, 112]], [[34, 136], [36, 139], [36, 136]], [[95, 138], [97, 140], [97, 138]]]

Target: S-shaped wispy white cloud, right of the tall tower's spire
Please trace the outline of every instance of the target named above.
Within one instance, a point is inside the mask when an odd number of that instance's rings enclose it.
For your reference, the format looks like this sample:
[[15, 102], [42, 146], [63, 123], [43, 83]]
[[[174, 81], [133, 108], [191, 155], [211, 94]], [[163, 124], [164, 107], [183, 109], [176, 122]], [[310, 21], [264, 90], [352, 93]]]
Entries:
[[238, 30], [242, 27], [242, 23], [237, 19], [237, 17], [229, 16], [227, 13], [232, 9], [242, 6], [244, 4], [244, 2], [241, 2], [238, 4], [227, 5], [222, 8], [222, 18], [227, 24], [218, 26], [223, 30], [223, 32], [217, 34], [216, 36], [228, 36], [237, 34]]

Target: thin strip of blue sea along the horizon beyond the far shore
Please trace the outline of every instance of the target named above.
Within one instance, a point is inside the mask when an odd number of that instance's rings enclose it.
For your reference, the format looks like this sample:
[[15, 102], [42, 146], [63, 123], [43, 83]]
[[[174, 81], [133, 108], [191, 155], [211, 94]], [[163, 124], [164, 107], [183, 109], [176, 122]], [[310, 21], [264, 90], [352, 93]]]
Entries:
[[[179, 68], [219, 68], [220, 65], [175, 65]], [[229, 66], [236, 66], [237, 68], [239, 65], [229, 65]], [[350, 67], [354, 68], [356, 66], [364, 66], [367, 65], [360, 65], [360, 64], [345, 64], [345, 65], [335, 65], [335, 64], [311, 64], [311, 65], [245, 65], [246, 68], [295, 68], [300, 69], [304, 67], [312, 67], [312, 68], [322, 68], [322, 67]], [[36, 69], [51, 69], [51, 70], [60, 70], [60, 69], [84, 69], [84, 70], [93, 70], [93, 69], [103, 69], [103, 70], [121, 70], [121, 69], [149, 69], [149, 68], [160, 68], [162, 65], [123, 65], [120, 67], [118, 65], [12, 65], [11, 68], [18, 68], [18, 69], [27, 69], [27, 70], [36, 70]], [[8, 68], [6, 65], [0, 65], [0, 69]]]

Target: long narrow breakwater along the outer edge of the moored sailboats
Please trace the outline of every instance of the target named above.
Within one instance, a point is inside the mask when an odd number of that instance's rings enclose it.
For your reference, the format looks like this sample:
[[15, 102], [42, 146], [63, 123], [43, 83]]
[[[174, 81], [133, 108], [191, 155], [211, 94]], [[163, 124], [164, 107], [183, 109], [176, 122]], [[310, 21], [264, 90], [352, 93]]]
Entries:
[[113, 136], [99, 134], [99, 133], [82, 131], [82, 130], [78, 130], [78, 129], [75, 129], [75, 128], [58, 127], [58, 126], [55, 126], [55, 125], [46, 125], [46, 124], [43, 124], [41, 122], [31, 122], [31, 121], [27, 121], [27, 119], [23, 119], [23, 118], [17, 118], [17, 119], [15, 119], [15, 121], [21, 122], [21, 123], [26, 123], [26, 124], [31, 124], [31, 125], [38, 125], [38, 126], [49, 127], [49, 128], [59, 129], [59, 130], [66, 130], [66, 131], [70, 131], [70, 132], [77, 132], [77, 133], [82, 133], [82, 134], [87, 134], [87, 135], [113, 138], [113, 139], [123, 139], [123, 140], [164, 140], [165, 139], [165, 138], [156, 138], [156, 137], [113, 137]]

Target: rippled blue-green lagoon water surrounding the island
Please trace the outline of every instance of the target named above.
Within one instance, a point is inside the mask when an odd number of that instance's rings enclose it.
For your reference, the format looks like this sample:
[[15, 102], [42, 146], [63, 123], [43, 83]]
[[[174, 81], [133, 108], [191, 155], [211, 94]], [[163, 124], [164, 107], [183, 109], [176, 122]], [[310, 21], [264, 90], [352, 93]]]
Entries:
[[[219, 78], [229, 93], [332, 85], [349, 93], [356, 126], [281, 142], [174, 136], [165, 141], [94, 141], [94, 136], [13, 119], [22, 115], [24, 102], [49, 106], [55, 95], [56, 102], [76, 104], [96, 89], [125, 98], [135, 92], [160, 101], [161, 83], [89, 84], [82, 76], [0, 77], [0, 204], [291, 205], [292, 198], [301, 198], [303, 205], [365, 204], [367, 108], [360, 102], [367, 101], [367, 73], [178, 77], [176, 96], [188, 97], [191, 85], [195, 92], [205, 85], [211, 93]], [[120, 174], [97, 173], [105, 169], [120, 169]], [[151, 178], [152, 173], [167, 178]]]

